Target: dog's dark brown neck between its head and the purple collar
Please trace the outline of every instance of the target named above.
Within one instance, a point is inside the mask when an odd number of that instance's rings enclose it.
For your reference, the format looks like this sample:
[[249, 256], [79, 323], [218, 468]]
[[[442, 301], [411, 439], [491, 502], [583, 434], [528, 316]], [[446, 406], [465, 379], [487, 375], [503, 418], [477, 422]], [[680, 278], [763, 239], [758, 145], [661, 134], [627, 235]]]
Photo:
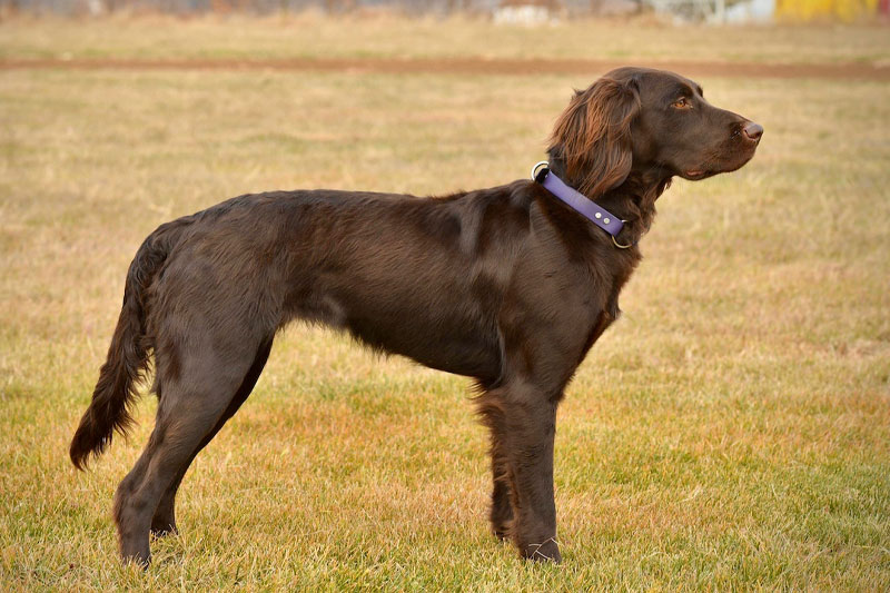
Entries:
[[[589, 186], [580, 176], [566, 175], [562, 158], [551, 152], [550, 169], [573, 188]], [[661, 167], [633, 167], [617, 187], [600, 196], [586, 196], [610, 213], [625, 220], [620, 238], [636, 243], [655, 218], [655, 200], [671, 185], [671, 175]]]

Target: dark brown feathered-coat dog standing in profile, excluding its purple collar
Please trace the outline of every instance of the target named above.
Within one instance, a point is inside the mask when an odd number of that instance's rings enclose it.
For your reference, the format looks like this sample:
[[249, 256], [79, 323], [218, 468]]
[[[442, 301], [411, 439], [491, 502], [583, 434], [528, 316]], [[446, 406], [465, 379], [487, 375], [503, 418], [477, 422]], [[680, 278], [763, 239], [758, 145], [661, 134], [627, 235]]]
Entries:
[[[619, 316], [636, 243], [671, 178], [738, 169], [762, 131], [685, 78], [622, 68], [578, 91], [551, 139], [551, 175], [585, 204], [568, 206], [536, 181], [423, 199], [277, 191], [161, 225], [130, 265], [70, 451], [82, 468], [127, 429], [154, 353], [155, 429], [115, 502], [123, 559], [148, 563], [149, 532], [176, 530], [189, 464], [250, 394], [275, 333], [304, 319], [475, 378], [492, 435], [492, 528], [524, 557], [558, 562], [563, 389]], [[585, 206], [623, 227], [604, 230]]]

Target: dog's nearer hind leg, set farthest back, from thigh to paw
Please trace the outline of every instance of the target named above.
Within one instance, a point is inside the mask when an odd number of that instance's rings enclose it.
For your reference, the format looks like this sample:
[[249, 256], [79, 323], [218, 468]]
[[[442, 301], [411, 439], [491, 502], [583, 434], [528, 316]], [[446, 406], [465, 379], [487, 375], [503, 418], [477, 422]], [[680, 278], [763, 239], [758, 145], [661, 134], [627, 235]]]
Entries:
[[115, 521], [125, 561], [148, 564], [149, 530], [161, 497], [221, 426], [226, 413], [237, 409], [230, 406], [255, 368], [258, 345], [219, 344], [204, 337], [202, 344], [185, 350], [180, 377], [164, 383], [148, 445], [118, 486]]

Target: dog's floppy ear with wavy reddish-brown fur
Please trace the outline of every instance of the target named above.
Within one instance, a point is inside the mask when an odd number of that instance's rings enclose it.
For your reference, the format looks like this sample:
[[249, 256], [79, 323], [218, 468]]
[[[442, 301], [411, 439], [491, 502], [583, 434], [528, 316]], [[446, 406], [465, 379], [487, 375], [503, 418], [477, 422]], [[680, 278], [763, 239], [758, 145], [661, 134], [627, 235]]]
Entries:
[[547, 151], [562, 157], [567, 182], [586, 196], [600, 196], [631, 172], [631, 122], [640, 111], [636, 82], [601, 78], [575, 91], [556, 120]]

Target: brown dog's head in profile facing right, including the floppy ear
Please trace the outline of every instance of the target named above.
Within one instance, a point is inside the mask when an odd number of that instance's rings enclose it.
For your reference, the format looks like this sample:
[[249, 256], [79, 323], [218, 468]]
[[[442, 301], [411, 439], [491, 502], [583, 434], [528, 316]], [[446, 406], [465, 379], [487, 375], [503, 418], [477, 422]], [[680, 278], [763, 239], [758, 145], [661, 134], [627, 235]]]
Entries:
[[758, 123], [709, 103], [692, 80], [619, 68], [576, 91], [548, 152], [576, 189], [596, 196], [632, 171], [661, 180], [734, 171], [754, 156], [762, 134]]

